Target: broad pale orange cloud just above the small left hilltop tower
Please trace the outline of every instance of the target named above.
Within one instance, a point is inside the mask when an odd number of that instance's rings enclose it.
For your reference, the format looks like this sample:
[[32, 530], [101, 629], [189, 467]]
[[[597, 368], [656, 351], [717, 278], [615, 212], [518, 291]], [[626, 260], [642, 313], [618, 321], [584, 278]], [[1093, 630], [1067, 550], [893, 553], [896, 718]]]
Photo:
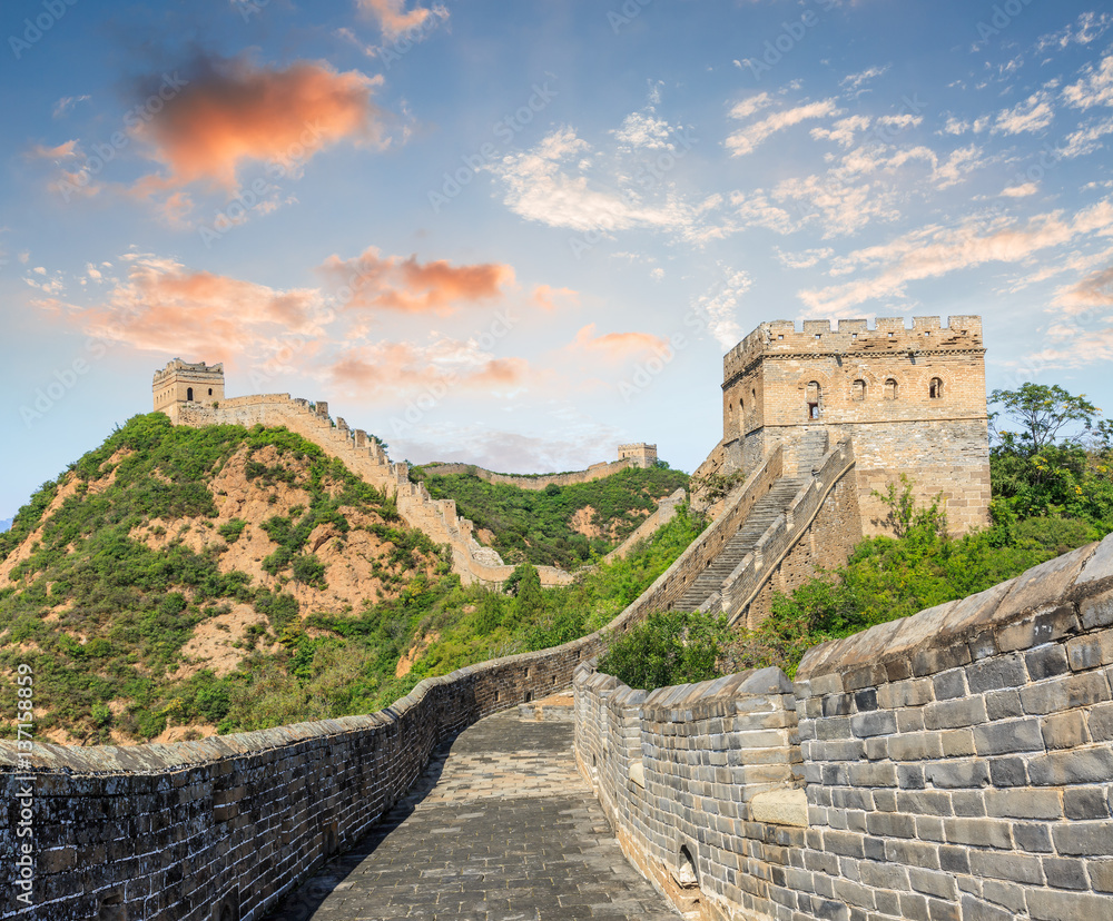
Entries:
[[67, 323], [140, 350], [209, 362], [234, 362], [273, 350], [289, 335], [323, 333], [321, 299], [313, 289], [278, 290], [191, 271], [173, 259], [146, 254], [129, 254], [124, 260], [127, 278], [115, 279], [107, 300], [92, 307], [68, 307]]

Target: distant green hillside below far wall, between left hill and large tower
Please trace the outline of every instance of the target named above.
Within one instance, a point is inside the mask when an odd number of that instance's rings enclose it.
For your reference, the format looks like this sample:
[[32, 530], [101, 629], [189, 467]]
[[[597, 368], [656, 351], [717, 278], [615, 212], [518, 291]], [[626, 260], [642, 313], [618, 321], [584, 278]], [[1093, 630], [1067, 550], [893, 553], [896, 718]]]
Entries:
[[522, 489], [469, 474], [424, 476], [434, 498], [456, 501], [480, 538], [508, 563], [565, 570], [605, 554], [628, 537], [658, 499], [688, 485], [688, 475], [667, 465], [629, 468], [590, 483]]

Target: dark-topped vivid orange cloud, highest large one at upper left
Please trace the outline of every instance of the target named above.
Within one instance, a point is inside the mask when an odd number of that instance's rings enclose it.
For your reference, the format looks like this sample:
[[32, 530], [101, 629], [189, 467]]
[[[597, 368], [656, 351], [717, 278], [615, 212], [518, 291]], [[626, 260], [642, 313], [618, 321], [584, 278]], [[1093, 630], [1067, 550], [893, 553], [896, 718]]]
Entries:
[[246, 161], [301, 164], [342, 140], [377, 141], [372, 95], [382, 78], [343, 73], [324, 61], [260, 68], [244, 59], [205, 58], [197, 71], [132, 133], [169, 175], [166, 187], [207, 181], [237, 186]]

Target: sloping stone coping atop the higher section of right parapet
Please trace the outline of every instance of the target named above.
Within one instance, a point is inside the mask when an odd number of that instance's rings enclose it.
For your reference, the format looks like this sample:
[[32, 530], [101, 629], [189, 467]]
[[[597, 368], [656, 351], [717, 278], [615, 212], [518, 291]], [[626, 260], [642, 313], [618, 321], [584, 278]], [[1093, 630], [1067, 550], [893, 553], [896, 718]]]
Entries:
[[1113, 535], [976, 595], [815, 646], [797, 680], [834, 676], [851, 690], [1031, 648], [1113, 623], [1111, 590]]

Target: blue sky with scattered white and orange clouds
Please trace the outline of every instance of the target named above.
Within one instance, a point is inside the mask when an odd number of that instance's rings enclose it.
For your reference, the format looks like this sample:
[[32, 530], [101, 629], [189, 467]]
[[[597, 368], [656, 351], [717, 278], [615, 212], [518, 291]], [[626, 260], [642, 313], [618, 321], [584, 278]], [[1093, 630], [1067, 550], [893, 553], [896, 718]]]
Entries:
[[148, 412], [174, 357], [327, 399], [396, 459], [502, 471], [629, 440], [691, 471], [722, 354], [770, 319], [981, 314], [991, 388], [1113, 398], [1101, 6], [2, 21], [0, 516]]

